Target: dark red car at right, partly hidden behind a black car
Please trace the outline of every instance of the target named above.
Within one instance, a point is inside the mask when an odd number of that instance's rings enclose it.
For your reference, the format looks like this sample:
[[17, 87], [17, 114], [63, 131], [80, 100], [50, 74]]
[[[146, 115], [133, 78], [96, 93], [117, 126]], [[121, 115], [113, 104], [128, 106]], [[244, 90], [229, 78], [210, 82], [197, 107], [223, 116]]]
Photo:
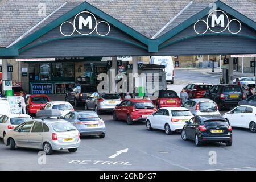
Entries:
[[188, 84], [185, 91], [189, 98], [204, 98], [204, 93], [209, 92], [210, 88], [212, 88], [210, 84]]

